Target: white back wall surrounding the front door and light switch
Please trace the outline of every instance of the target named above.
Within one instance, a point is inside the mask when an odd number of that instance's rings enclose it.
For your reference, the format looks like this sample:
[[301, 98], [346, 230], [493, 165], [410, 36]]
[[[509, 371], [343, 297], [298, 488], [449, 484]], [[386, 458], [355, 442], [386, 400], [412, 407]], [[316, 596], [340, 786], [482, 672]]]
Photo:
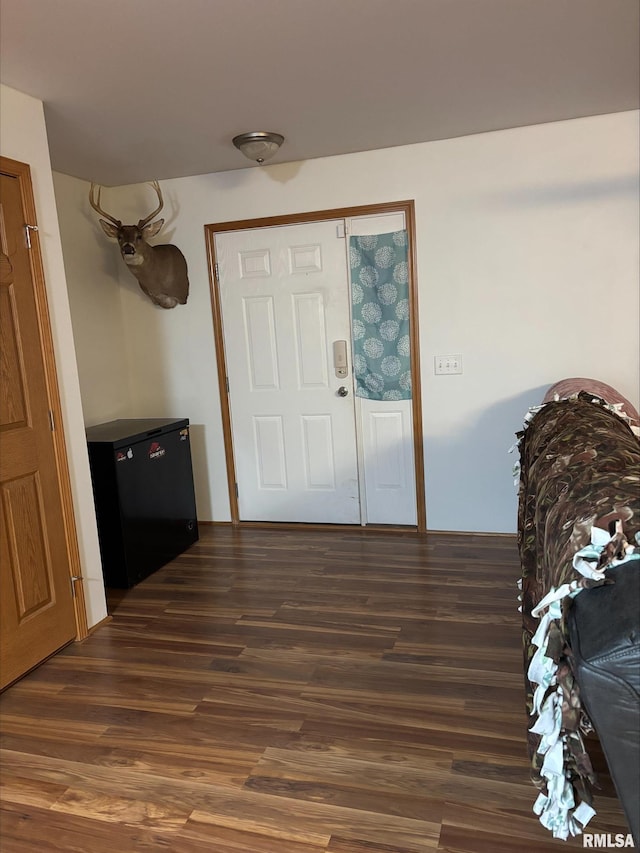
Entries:
[[[638, 405], [637, 151], [629, 112], [164, 181], [163, 238], [184, 252], [191, 294], [164, 311], [120, 268], [129, 416], [191, 420], [199, 515], [228, 520], [203, 226], [415, 199], [428, 527], [513, 532], [507, 450], [546, 387], [591, 376]], [[120, 187], [103, 202], [134, 221], [153, 195]], [[114, 253], [104, 239], [92, 262]], [[99, 315], [78, 314], [90, 341]], [[434, 376], [447, 353], [461, 376]]]

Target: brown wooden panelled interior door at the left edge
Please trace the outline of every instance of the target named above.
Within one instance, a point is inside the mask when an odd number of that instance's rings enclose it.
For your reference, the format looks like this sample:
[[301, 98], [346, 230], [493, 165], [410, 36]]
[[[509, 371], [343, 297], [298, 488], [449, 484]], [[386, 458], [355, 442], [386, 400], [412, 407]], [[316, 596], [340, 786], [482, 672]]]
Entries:
[[[0, 687], [76, 637], [28, 166], [0, 161]], [[21, 168], [24, 167], [24, 168]], [[16, 173], [19, 174], [16, 174]], [[32, 201], [32, 198], [31, 198]], [[40, 286], [39, 286], [40, 285]]]

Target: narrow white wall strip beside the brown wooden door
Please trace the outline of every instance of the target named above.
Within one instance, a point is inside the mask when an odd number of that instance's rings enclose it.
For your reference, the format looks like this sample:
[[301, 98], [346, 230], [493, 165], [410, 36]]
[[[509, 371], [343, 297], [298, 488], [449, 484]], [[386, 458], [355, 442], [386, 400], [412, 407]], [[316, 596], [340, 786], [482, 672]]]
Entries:
[[5, 157], [28, 163], [31, 167], [78, 545], [85, 578], [87, 621], [91, 627], [104, 619], [107, 610], [44, 111], [40, 101], [6, 86], [0, 87], [0, 103], [0, 151]]

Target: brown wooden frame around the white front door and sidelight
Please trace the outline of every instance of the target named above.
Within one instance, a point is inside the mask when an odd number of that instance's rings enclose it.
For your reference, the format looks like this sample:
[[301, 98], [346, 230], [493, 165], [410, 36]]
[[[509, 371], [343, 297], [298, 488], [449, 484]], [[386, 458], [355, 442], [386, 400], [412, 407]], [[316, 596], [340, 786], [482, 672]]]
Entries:
[[[409, 272], [409, 334], [411, 337], [411, 385], [412, 385], [412, 414], [413, 414], [413, 460], [416, 483], [416, 513], [419, 533], [426, 532], [426, 506], [424, 486], [424, 445], [422, 440], [422, 393], [420, 383], [420, 342], [418, 335], [418, 281], [416, 263], [416, 229], [415, 202], [405, 201], [383, 202], [381, 204], [365, 204], [358, 207], [340, 207], [331, 210], [314, 210], [307, 213], [293, 213], [284, 216], [267, 216], [261, 219], [239, 219], [232, 222], [217, 222], [205, 225], [205, 242], [207, 247], [207, 266], [209, 268], [209, 289], [211, 292], [211, 308], [213, 312], [213, 337], [218, 366], [218, 386], [220, 389], [220, 408], [222, 412], [222, 432], [224, 452], [227, 465], [227, 485], [229, 489], [229, 506], [231, 523], [234, 527], [255, 526], [256, 522], [240, 520], [238, 496], [236, 493], [236, 469], [233, 453], [233, 435], [231, 430], [231, 407], [227, 388], [227, 363], [224, 351], [222, 332], [222, 302], [220, 298], [220, 282], [217, 275], [217, 260], [215, 238], [217, 234], [226, 231], [250, 231], [256, 228], [272, 228], [276, 226], [299, 225], [301, 223], [324, 222], [328, 219], [351, 219], [358, 216], [376, 216], [385, 213], [404, 213], [405, 227], [409, 238], [408, 272]], [[264, 522], [268, 524], [268, 522]], [[273, 524], [273, 523], [272, 523]], [[280, 523], [279, 526], [282, 526]], [[301, 525], [296, 525], [297, 527]], [[306, 525], [316, 526], [316, 525]], [[341, 525], [342, 526], [342, 525]], [[349, 527], [354, 525], [344, 525]], [[375, 525], [371, 525], [375, 527]]]

